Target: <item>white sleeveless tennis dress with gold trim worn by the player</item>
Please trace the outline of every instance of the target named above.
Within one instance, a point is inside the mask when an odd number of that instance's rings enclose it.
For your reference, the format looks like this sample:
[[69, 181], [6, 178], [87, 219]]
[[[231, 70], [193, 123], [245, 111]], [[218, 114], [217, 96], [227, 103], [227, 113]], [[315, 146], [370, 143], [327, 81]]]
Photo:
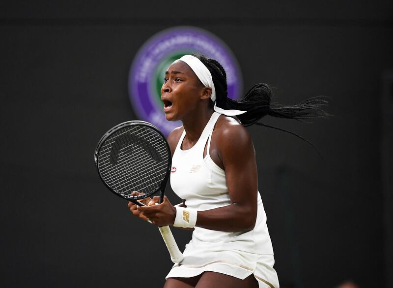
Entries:
[[[181, 150], [186, 135], [183, 131], [172, 158], [171, 187], [186, 200], [187, 207], [198, 211], [231, 204], [225, 171], [209, 155], [211, 134], [220, 115], [213, 113], [197, 143], [189, 150]], [[206, 142], [207, 155], [203, 158]], [[253, 230], [222, 232], [195, 227], [193, 238], [184, 250], [184, 259], [173, 265], [166, 278], [193, 277], [204, 271], [239, 279], [253, 274], [259, 288], [279, 288], [277, 273], [273, 269], [272, 242], [259, 192], [256, 197], [258, 212]]]

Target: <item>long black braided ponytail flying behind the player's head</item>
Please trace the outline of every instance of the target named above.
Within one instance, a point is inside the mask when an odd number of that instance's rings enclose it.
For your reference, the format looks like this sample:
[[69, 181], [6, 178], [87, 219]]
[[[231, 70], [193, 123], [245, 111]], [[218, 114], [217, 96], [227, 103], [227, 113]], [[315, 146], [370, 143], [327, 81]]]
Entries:
[[[311, 144], [319, 153], [318, 149], [302, 136], [282, 128], [260, 123], [258, 121], [266, 115], [295, 119], [299, 121], [305, 121], [310, 118], [327, 118], [331, 115], [322, 109], [323, 106], [328, 104], [328, 101], [326, 101], [323, 96], [311, 97], [294, 105], [272, 104], [272, 90], [269, 85], [258, 83], [255, 84], [242, 99], [234, 100], [228, 97], [228, 86], [226, 84], [226, 73], [224, 67], [218, 61], [207, 58], [203, 55], [193, 56], [197, 57], [207, 67], [207, 69], [209, 69], [212, 75], [218, 107], [225, 110], [236, 109], [247, 111], [246, 113], [236, 116], [243, 126], [260, 125], [290, 133]], [[319, 155], [321, 154], [319, 153]]]

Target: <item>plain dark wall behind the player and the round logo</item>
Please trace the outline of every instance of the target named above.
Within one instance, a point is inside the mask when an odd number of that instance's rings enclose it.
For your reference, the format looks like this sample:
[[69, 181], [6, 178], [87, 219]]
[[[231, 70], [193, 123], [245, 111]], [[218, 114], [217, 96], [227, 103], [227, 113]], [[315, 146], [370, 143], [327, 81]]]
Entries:
[[[264, 120], [324, 160], [250, 128], [281, 287], [393, 287], [393, 3], [309, 2], [1, 2], [1, 286], [163, 286], [157, 228], [106, 190], [93, 152], [136, 119], [127, 80], [140, 46], [188, 25], [225, 41], [245, 90], [331, 98], [329, 120]], [[172, 230], [183, 249], [191, 234]]]

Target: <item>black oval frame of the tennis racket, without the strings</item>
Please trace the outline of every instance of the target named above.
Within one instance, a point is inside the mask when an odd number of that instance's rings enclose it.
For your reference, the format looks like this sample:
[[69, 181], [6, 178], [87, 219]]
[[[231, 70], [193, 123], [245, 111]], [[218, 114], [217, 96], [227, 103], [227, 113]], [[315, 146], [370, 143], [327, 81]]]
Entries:
[[[120, 195], [117, 192], [113, 191], [111, 187], [109, 187], [109, 185], [105, 182], [105, 180], [102, 178], [101, 173], [100, 173], [100, 169], [98, 168], [98, 154], [100, 153], [100, 149], [102, 144], [105, 142], [105, 140], [111, 136], [114, 132], [116, 132], [117, 130], [120, 130], [122, 128], [128, 127], [128, 126], [136, 126], [136, 125], [140, 125], [140, 126], [146, 126], [148, 128], [151, 128], [153, 130], [155, 130], [158, 134], [160, 134], [161, 137], [163, 137], [165, 145], [168, 149], [169, 155], [168, 155], [168, 167], [167, 167], [167, 171], [166, 171], [166, 175], [164, 177], [164, 180], [161, 182], [161, 185], [159, 188], [157, 188], [154, 192], [151, 193], [147, 193], [147, 194], [143, 194], [143, 195], [138, 195], [138, 196], [133, 196], [133, 198], [128, 198], [126, 196]], [[126, 199], [129, 200], [135, 204], [137, 204], [138, 206], [146, 206], [145, 204], [141, 203], [140, 199], [144, 199], [147, 198], [157, 192], [160, 191], [160, 200], [159, 203], [162, 203], [162, 201], [164, 200], [164, 193], [165, 193], [165, 188], [167, 186], [167, 182], [168, 182], [168, 178], [170, 175], [170, 169], [172, 167], [172, 155], [171, 155], [171, 151], [170, 151], [170, 147], [168, 144], [167, 139], [165, 138], [164, 134], [160, 131], [159, 128], [155, 127], [153, 124], [149, 123], [149, 122], [145, 122], [145, 121], [140, 121], [140, 120], [132, 120], [132, 121], [127, 121], [127, 122], [123, 122], [120, 123], [114, 127], [112, 127], [111, 129], [109, 129], [100, 139], [100, 141], [98, 142], [96, 148], [95, 148], [95, 152], [94, 152], [94, 163], [97, 167], [97, 172], [98, 175], [100, 176], [101, 181], [105, 184], [105, 186], [115, 195], [121, 197], [122, 199]]]

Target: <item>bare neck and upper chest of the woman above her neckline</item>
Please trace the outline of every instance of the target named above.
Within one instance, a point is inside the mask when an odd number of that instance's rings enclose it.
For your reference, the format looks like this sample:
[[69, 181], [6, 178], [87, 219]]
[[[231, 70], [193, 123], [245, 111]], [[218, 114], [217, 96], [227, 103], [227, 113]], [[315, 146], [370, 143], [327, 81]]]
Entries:
[[190, 144], [195, 144], [198, 141], [213, 112], [213, 109], [204, 109], [182, 120], [186, 138]]

